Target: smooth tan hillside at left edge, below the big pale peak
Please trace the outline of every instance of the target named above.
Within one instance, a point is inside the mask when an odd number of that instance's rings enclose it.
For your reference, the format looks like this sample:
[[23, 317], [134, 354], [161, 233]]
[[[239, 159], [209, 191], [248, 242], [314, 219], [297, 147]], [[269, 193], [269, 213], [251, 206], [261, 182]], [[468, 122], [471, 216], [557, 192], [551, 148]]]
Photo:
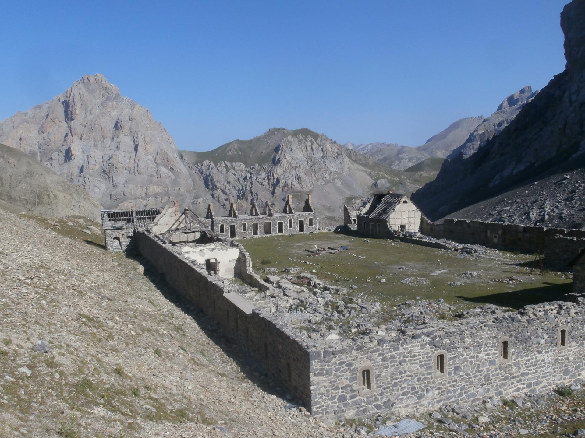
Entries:
[[46, 218], [77, 215], [99, 220], [102, 209], [80, 186], [4, 144], [0, 144], [0, 201]]

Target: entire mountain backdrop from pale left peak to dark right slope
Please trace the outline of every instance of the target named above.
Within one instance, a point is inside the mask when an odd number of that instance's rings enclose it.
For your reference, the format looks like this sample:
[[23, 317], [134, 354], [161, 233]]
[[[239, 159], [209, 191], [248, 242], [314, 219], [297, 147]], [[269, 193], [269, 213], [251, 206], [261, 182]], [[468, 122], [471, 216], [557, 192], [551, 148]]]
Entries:
[[[585, 194], [585, 2], [563, 9], [562, 28], [567, 67], [541, 92], [524, 87], [489, 117], [457, 120], [419, 147], [341, 145], [306, 128], [281, 127], [211, 151], [179, 151], [148, 109], [104, 76], [87, 75], [51, 101], [0, 122], [0, 143], [22, 152], [0, 149], [0, 184], [15, 194], [4, 193], [0, 201], [32, 210], [47, 195], [60, 199], [59, 207], [46, 206], [42, 214], [88, 215], [95, 206], [178, 200], [203, 214], [208, 203], [219, 212], [232, 201], [242, 212], [251, 201], [269, 201], [278, 210], [287, 194], [301, 206], [311, 192], [322, 223], [332, 225], [343, 204], [358, 205], [390, 189], [414, 192], [431, 219], [577, 226], [585, 223], [579, 213]], [[49, 191], [41, 189], [43, 181]], [[539, 181], [542, 192], [534, 188]]]

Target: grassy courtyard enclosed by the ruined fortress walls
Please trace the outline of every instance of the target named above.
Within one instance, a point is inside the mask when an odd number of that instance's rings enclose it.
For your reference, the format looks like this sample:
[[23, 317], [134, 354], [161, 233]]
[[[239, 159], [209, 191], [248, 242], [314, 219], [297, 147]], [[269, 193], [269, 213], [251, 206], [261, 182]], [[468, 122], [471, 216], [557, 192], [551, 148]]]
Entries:
[[[363, 239], [336, 233], [240, 239], [252, 256], [253, 269], [301, 267], [330, 284], [350, 288], [356, 299], [386, 304], [445, 299], [469, 308], [496, 304], [518, 309], [526, 304], [563, 299], [571, 292], [567, 275], [535, 269], [534, 257], [490, 250], [469, 256], [409, 243]], [[335, 254], [312, 256], [305, 249], [347, 246]], [[380, 281], [386, 280], [386, 281]]]

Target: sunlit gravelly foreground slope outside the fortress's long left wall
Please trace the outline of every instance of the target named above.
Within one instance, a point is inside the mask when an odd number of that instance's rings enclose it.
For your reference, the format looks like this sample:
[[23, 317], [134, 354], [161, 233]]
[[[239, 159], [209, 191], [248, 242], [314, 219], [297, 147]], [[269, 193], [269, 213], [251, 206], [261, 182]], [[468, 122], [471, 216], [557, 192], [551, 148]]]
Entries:
[[360, 436], [289, 406], [148, 265], [54, 230], [0, 209], [0, 436]]

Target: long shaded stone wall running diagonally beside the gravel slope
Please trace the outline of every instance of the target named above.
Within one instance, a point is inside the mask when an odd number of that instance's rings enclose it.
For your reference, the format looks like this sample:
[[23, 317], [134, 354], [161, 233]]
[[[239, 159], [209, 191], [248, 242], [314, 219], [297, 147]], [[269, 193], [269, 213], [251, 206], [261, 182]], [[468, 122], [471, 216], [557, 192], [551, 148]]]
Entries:
[[[268, 374], [311, 409], [309, 353], [297, 339], [296, 330], [277, 316], [254, 308], [239, 295], [236, 285], [208, 275], [205, 268], [185, 258], [180, 247], [165, 245], [146, 232], [137, 231], [135, 239], [140, 253], [168, 284], [217, 320], [225, 336], [249, 351]], [[242, 266], [236, 270], [242, 270]]]

